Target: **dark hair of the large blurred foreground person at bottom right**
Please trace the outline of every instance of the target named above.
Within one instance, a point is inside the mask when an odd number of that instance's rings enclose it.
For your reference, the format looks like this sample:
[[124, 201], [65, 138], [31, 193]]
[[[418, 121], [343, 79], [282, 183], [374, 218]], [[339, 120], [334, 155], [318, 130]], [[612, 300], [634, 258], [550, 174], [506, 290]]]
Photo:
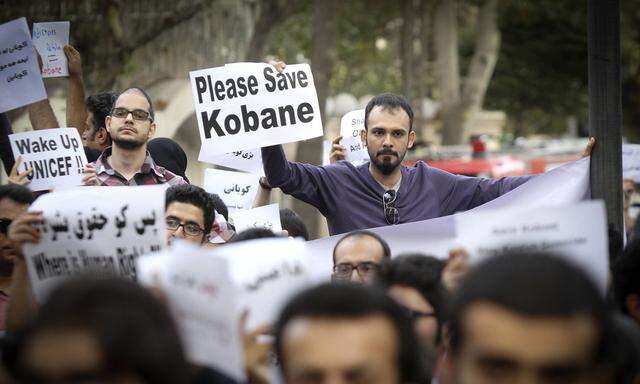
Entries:
[[581, 270], [555, 255], [504, 254], [472, 269], [451, 301], [448, 329], [454, 354], [463, 344], [465, 312], [478, 302], [528, 317], [591, 316], [599, 332], [594, 357], [606, 357], [610, 328], [603, 297]]

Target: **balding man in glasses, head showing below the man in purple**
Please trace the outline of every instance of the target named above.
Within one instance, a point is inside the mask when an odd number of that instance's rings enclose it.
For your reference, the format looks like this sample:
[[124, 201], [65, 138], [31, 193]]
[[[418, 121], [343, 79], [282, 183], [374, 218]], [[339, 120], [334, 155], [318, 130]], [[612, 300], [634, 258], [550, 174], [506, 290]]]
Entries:
[[384, 260], [391, 258], [386, 241], [369, 231], [355, 231], [333, 248], [333, 281], [371, 284]]

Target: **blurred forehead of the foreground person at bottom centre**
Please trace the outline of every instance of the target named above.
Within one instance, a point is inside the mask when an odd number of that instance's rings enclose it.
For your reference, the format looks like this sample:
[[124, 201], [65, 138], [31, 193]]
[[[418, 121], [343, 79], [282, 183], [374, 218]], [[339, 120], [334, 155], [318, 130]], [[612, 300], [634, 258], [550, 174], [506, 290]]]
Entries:
[[[393, 322], [382, 314], [356, 318], [293, 319], [283, 332], [287, 364], [339, 366], [394, 363], [398, 340]], [[336, 354], [336, 351], [340, 351]]]

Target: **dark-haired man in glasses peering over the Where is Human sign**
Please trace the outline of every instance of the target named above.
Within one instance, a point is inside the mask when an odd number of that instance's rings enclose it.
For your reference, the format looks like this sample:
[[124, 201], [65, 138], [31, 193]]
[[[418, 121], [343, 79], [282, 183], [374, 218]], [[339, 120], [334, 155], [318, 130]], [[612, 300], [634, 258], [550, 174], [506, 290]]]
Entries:
[[215, 211], [213, 197], [200, 187], [185, 184], [168, 188], [165, 202], [167, 243], [179, 238], [205, 244], [213, 228]]

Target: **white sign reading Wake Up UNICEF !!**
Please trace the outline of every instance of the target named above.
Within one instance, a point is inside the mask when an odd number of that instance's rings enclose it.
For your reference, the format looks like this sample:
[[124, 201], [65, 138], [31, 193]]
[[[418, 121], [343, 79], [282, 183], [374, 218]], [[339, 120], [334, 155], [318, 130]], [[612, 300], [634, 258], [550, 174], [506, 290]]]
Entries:
[[19, 172], [31, 168], [32, 191], [82, 185], [87, 163], [80, 135], [75, 128], [54, 128], [9, 135], [13, 156], [21, 157]]

